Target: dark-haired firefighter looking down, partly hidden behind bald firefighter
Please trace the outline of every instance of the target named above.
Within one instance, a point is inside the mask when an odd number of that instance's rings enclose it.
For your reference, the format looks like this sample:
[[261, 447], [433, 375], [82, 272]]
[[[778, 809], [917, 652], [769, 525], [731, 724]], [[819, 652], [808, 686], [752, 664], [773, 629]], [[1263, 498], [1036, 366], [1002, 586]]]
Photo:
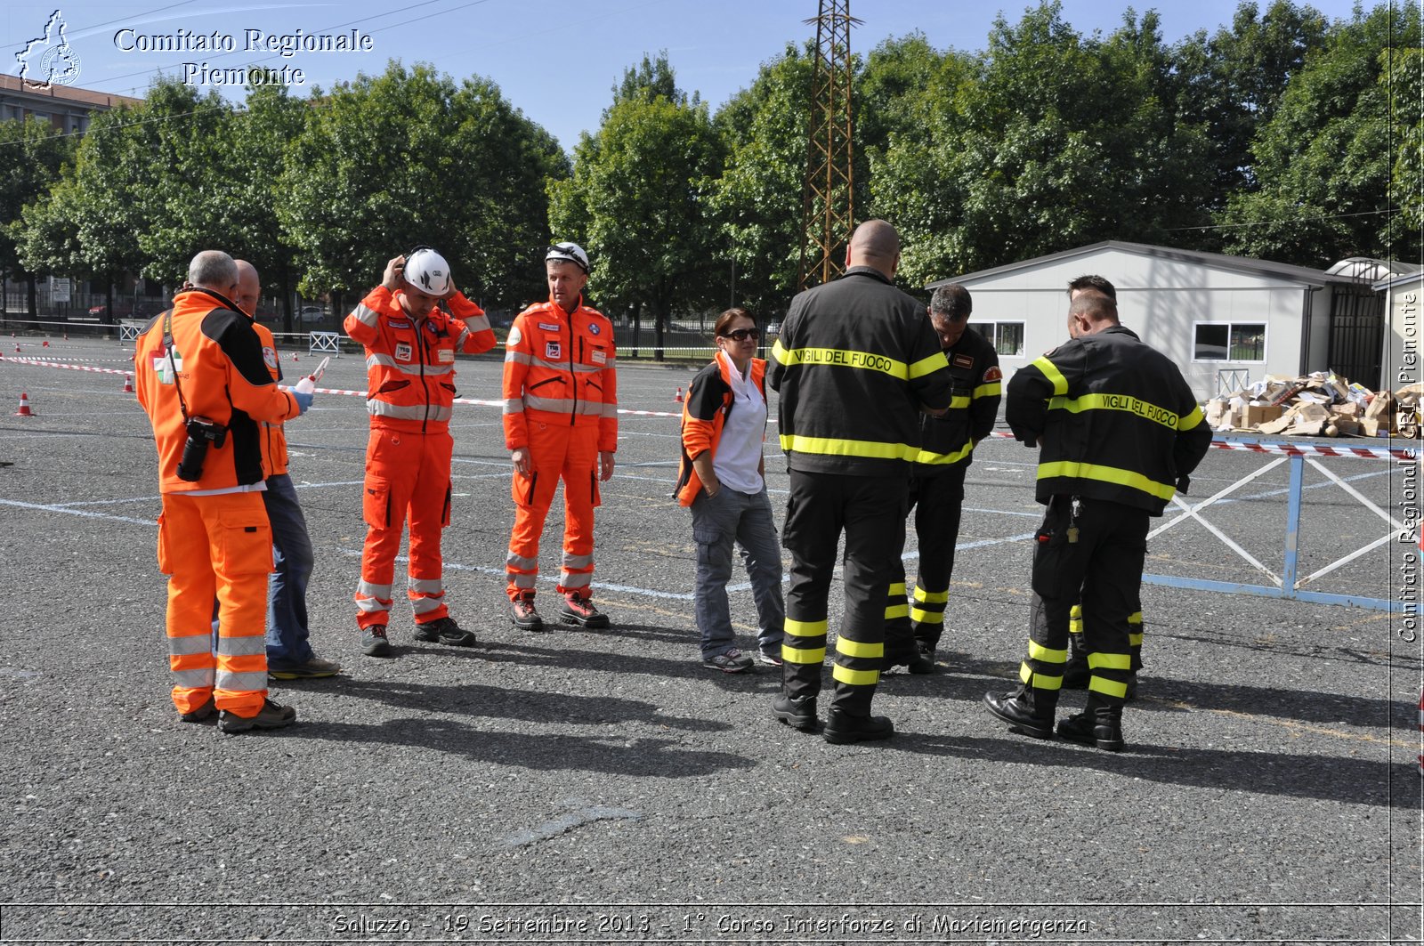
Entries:
[[950, 363], [953, 399], [943, 416], [920, 420], [920, 453], [910, 479], [920, 574], [914, 597], [907, 600], [901, 566], [886, 605], [886, 665], [904, 664], [911, 674], [934, 671], [960, 536], [964, 473], [974, 462], [974, 445], [988, 436], [998, 416], [1004, 375], [994, 345], [968, 328], [973, 308], [970, 291], [958, 284], [940, 286], [930, 299], [930, 322]]

